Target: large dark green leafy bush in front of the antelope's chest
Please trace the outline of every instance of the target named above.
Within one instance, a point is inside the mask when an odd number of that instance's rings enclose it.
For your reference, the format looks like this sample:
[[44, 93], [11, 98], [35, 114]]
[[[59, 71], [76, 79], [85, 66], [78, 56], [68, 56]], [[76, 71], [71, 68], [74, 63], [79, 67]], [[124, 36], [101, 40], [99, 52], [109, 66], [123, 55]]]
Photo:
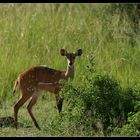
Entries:
[[[56, 130], [61, 124], [60, 133], [66, 130], [68, 135], [109, 136], [114, 135], [113, 132], [118, 134], [117, 131], [121, 130], [119, 128], [123, 128], [134, 119], [130, 114], [136, 113], [137, 90], [123, 89], [112, 76], [99, 75], [91, 61], [93, 59], [92, 56], [89, 59], [87, 65], [89, 70], [82, 77], [83, 82], [74, 85], [69, 81], [62, 90], [65, 107], [61, 115], [53, 121]], [[138, 123], [138, 118], [134, 122]]]

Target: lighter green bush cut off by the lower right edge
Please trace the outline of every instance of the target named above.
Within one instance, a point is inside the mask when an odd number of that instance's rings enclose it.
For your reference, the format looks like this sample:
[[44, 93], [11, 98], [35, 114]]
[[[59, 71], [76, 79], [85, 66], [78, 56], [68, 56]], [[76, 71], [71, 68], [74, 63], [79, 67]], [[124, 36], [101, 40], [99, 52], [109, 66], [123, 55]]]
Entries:
[[[140, 136], [140, 84], [133, 88], [134, 111], [128, 114], [127, 123], [122, 128], [114, 129], [113, 134], [122, 136]], [[130, 107], [129, 100], [125, 104]]]

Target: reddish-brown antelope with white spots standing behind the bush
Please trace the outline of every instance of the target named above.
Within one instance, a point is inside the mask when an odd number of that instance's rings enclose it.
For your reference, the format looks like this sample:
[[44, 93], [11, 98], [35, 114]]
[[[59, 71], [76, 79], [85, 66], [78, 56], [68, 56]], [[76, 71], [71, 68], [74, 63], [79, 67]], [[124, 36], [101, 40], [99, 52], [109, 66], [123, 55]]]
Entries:
[[18, 102], [14, 105], [14, 125], [16, 129], [19, 108], [29, 99], [29, 104], [27, 105], [28, 113], [36, 128], [40, 130], [32, 113], [32, 107], [36, 104], [40, 92], [43, 90], [54, 93], [58, 112], [61, 112], [63, 98], [59, 95], [59, 91], [63, 86], [60, 80], [67, 81], [68, 79], [74, 78], [75, 58], [76, 56], [81, 56], [82, 49], [78, 49], [74, 53], [67, 52], [65, 49], [60, 49], [60, 54], [67, 58], [66, 71], [56, 70], [46, 66], [34, 66], [19, 74], [17, 77], [13, 87], [13, 93], [19, 88], [22, 94]]

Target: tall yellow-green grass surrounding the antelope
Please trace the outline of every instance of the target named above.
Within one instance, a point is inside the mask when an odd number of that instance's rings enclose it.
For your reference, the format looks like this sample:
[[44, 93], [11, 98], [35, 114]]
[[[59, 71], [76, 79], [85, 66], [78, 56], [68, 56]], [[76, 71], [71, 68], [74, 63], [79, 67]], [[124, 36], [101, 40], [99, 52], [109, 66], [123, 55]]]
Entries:
[[[21, 72], [34, 65], [66, 69], [66, 59], [60, 56], [60, 48], [83, 49], [83, 55], [75, 62], [75, 84], [79, 84], [81, 75], [86, 72], [90, 54], [95, 55], [97, 71], [115, 76], [123, 87], [132, 87], [139, 81], [140, 47], [131, 47], [127, 41], [119, 39], [106, 39], [106, 34], [118, 25], [119, 17], [113, 17], [114, 24], [104, 28], [101, 10], [105, 6], [107, 4], [59, 4], [57, 9], [55, 4], [0, 4], [1, 116], [13, 115], [13, 104], [19, 93], [13, 96], [12, 87]], [[119, 38], [119, 34], [116, 37]], [[0, 128], [0, 136], [60, 135], [57, 131], [51, 134], [53, 131], [49, 128], [58, 116], [54, 106], [52, 95], [41, 95], [34, 113], [43, 129], [36, 130], [24, 106], [19, 120], [25, 127], [17, 131]], [[64, 132], [63, 135], [70, 134]]]

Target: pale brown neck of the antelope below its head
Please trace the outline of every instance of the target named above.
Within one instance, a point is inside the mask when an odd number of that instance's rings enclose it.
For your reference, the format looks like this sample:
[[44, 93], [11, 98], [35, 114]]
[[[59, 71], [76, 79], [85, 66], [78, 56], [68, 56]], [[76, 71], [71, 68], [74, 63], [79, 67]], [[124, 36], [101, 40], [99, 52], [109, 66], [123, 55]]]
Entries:
[[67, 66], [67, 71], [65, 73], [65, 77], [66, 77], [66, 79], [68, 79], [68, 78], [73, 79], [74, 78], [74, 65]]

